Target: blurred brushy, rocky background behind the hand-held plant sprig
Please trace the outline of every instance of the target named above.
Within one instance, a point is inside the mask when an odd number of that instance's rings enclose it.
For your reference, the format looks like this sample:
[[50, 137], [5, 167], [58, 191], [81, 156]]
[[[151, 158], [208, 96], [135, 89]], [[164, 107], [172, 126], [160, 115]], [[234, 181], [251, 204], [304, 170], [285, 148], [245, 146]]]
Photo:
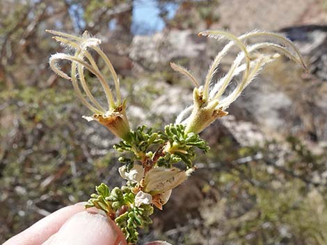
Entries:
[[326, 11], [325, 0], [1, 0], [0, 242], [86, 201], [99, 183], [122, 184], [117, 139], [81, 119], [89, 112], [49, 70], [49, 55], [63, 48], [45, 29], [101, 38], [134, 127], [163, 128], [192, 90], [169, 62], [203, 78], [222, 47], [198, 31], [259, 28], [296, 42], [310, 73], [278, 60], [202, 133], [212, 150], [140, 244], [327, 244]]

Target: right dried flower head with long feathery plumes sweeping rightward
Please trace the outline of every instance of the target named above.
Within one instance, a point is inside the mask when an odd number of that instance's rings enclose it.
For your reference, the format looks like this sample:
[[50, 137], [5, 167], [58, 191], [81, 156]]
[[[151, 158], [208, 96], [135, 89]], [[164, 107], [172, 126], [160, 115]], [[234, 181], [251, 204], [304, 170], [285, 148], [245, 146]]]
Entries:
[[[294, 60], [306, 69], [303, 58], [295, 45], [286, 37], [277, 33], [253, 31], [237, 37], [225, 31], [202, 31], [199, 35], [214, 37], [216, 39], [222, 37], [230, 40], [230, 42], [225, 45], [213, 60], [203, 86], [200, 86], [200, 83], [198, 83], [196, 78], [194, 78], [187, 69], [174, 63], [170, 64], [175, 71], [179, 71], [187, 76], [196, 85], [193, 90], [193, 105], [183, 110], [175, 122], [175, 124], [185, 124], [186, 133], [200, 133], [200, 131], [207, 128], [207, 126], [217, 118], [228, 115], [228, 112], [225, 110], [228, 109], [230, 104], [234, 102], [246, 86], [253, 81], [262, 67], [276, 60], [280, 54]], [[280, 44], [273, 42], [257, 42], [256, 44], [247, 46], [244, 41], [252, 37], [264, 37], [269, 40], [276, 40]], [[219, 81], [215, 82], [214, 74], [219, 63], [234, 45], [241, 51], [234, 59], [228, 73], [225, 74], [223, 78], [219, 79]], [[273, 53], [271, 51], [273, 51]], [[226, 96], [225, 91], [228, 85], [230, 85], [232, 79], [241, 72], [243, 72], [241, 82]]]

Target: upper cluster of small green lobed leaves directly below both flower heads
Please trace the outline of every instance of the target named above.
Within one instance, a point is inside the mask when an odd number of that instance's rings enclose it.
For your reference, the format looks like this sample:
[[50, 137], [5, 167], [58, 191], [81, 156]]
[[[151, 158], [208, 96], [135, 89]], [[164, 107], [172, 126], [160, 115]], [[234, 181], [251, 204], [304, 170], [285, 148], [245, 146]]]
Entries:
[[[146, 158], [156, 158], [155, 164], [159, 167], [172, 167], [177, 162], [184, 162], [186, 168], [193, 167], [193, 160], [196, 158], [196, 148], [207, 152], [209, 146], [207, 142], [202, 140], [196, 133], [186, 133], [185, 126], [167, 125], [164, 132], [153, 133], [152, 128], [147, 126], [138, 127], [137, 130], [131, 131], [129, 142], [122, 140], [119, 144], [115, 144], [113, 148], [119, 152], [129, 152], [132, 154], [130, 158], [120, 157], [119, 161], [131, 169], [134, 160], [145, 160]], [[159, 146], [157, 151], [148, 151]]]

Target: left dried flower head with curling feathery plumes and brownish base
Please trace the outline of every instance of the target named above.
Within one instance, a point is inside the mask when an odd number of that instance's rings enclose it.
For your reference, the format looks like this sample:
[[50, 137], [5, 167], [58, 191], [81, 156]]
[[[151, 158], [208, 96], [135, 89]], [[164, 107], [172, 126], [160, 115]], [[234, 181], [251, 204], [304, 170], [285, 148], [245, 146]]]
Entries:
[[[74, 35], [61, 33], [58, 31], [47, 30], [47, 32], [56, 35], [53, 37], [54, 40], [61, 42], [61, 44], [64, 46], [70, 47], [74, 50], [74, 56], [66, 53], [56, 53], [52, 55], [49, 59], [49, 64], [51, 69], [53, 69], [58, 76], [72, 81], [72, 85], [80, 101], [86, 105], [88, 109], [95, 113], [92, 117], [83, 116], [83, 118], [88, 121], [99, 121], [100, 124], [109, 128], [109, 130], [111, 130], [111, 132], [117, 137], [120, 137], [123, 140], [128, 140], [130, 129], [126, 116], [125, 101], [122, 101], [121, 98], [119, 79], [115, 69], [113, 69], [113, 65], [111, 64], [109, 58], [99, 48], [101, 40], [91, 37], [87, 31], [83, 33], [81, 37], [76, 37]], [[115, 85], [115, 97], [113, 96], [113, 92], [109, 87], [109, 84], [106, 82], [104, 75], [99, 70], [99, 67], [97, 67], [94, 58], [91, 56], [89, 49], [92, 49], [99, 54], [99, 56], [104, 60], [106, 66], [109, 68], [109, 71], [113, 76], [113, 83]], [[70, 76], [62, 71], [61, 67], [58, 66], [59, 60], [69, 60], [72, 63]], [[87, 69], [94, 74], [97, 79], [99, 79], [99, 82], [104, 90], [104, 94], [106, 95], [106, 100], [108, 103], [107, 108], [104, 108], [90, 92], [84, 76], [84, 69]], [[79, 83], [83, 88], [87, 99], [81, 92]]]

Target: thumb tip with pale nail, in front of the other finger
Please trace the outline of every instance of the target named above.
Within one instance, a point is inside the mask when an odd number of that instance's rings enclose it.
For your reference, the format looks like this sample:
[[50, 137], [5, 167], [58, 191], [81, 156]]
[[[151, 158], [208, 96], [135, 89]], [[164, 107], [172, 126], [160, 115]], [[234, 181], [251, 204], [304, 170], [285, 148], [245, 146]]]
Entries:
[[43, 245], [126, 245], [122, 231], [101, 213], [79, 212]]

